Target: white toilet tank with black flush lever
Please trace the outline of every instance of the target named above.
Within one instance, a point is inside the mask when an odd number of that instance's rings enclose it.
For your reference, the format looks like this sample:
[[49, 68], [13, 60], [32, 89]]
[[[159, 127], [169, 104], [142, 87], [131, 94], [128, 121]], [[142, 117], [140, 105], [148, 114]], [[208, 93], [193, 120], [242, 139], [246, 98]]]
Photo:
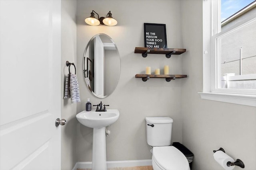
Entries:
[[170, 117], [146, 117], [147, 143], [152, 147], [171, 145], [172, 122]]

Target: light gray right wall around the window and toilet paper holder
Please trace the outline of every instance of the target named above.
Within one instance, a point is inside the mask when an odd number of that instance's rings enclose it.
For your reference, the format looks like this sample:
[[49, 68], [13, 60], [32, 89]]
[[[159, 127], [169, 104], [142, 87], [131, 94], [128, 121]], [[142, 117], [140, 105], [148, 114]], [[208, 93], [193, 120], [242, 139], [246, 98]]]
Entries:
[[[194, 153], [193, 169], [221, 170], [213, 150], [224, 148], [246, 170], [256, 167], [256, 107], [202, 100], [203, 20], [200, 0], [182, 1], [182, 141]], [[239, 167], [234, 170], [239, 170]]]

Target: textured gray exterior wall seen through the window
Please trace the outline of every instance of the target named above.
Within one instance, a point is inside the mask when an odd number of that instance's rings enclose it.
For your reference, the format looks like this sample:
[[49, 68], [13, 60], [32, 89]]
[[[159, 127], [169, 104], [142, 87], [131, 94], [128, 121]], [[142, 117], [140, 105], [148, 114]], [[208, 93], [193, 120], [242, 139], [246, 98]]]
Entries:
[[[256, 8], [254, 8], [256, 11]], [[244, 15], [250, 14], [245, 13]], [[239, 18], [236, 20], [239, 21]], [[232, 24], [232, 22], [230, 23]], [[228, 27], [229, 23], [224, 25]], [[242, 47], [242, 74], [256, 74], [256, 22], [221, 38], [221, 75], [240, 75], [240, 48]]]

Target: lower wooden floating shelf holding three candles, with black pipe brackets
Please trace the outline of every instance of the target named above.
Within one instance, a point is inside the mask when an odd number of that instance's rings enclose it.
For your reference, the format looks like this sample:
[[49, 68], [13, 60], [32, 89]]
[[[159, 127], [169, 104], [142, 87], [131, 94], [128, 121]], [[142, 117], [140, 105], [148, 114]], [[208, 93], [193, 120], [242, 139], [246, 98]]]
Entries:
[[142, 78], [142, 81], [146, 82], [150, 78], [165, 78], [166, 82], [170, 82], [171, 80], [175, 80], [176, 78], [186, 78], [187, 75], [180, 74], [136, 74], [135, 78]]

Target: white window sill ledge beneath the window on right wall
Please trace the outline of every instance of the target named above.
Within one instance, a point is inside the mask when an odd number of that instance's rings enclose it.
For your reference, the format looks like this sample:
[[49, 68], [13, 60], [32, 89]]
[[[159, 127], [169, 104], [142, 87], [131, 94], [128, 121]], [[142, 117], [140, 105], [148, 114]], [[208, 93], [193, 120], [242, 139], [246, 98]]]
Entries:
[[211, 92], [198, 92], [202, 99], [214, 100], [218, 102], [227, 102], [256, 107], [256, 96], [242, 94], [223, 94]]

